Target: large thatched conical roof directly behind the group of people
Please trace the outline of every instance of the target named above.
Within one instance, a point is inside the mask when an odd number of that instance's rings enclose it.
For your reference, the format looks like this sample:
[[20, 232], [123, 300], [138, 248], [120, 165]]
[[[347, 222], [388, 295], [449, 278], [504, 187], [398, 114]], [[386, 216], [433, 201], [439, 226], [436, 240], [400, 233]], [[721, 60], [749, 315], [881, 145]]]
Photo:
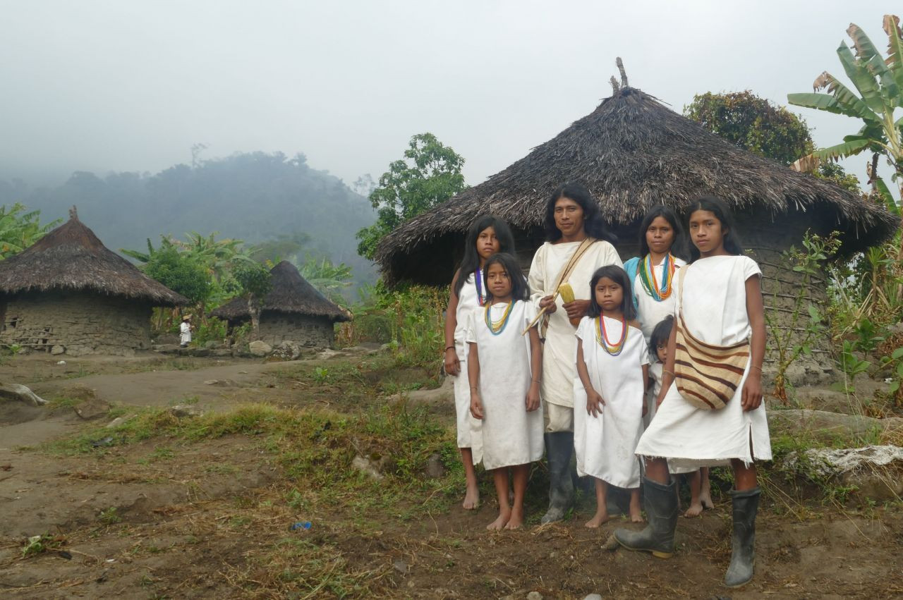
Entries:
[[884, 208], [856, 194], [742, 150], [639, 89], [620, 88], [525, 158], [386, 235], [377, 262], [389, 282], [433, 282], [440, 248], [447, 253], [452, 236], [460, 245], [475, 217], [492, 213], [516, 230], [538, 233], [545, 201], [566, 181], [590, 189], [615, 229], [637, 226], [656, 204], [681, 210], [703, 193], [747, 214], [767, 211], [776, 222], [790, 212], [808, 213], [828, 231], [841, 231], [848, 251], [898, 226]]

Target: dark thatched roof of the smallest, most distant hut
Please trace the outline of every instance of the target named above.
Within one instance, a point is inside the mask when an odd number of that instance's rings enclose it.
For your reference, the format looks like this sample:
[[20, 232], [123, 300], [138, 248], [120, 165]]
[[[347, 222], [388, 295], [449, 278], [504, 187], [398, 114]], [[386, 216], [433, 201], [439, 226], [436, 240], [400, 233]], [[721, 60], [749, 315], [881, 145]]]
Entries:
[[[263, 311], [295, 313], [310, 317], [326, 317], [333, 321], [349, 321], [349, 312], [327, 300], [307, 282], [298, 269], [288, 261], [275, 265], [270, 270], [273, 289], [266, 294]], [[247, 300], [238, 297], [229, 300], [219, 309], [213, 310], [212, 317], [226, 319], [248, 318]]]

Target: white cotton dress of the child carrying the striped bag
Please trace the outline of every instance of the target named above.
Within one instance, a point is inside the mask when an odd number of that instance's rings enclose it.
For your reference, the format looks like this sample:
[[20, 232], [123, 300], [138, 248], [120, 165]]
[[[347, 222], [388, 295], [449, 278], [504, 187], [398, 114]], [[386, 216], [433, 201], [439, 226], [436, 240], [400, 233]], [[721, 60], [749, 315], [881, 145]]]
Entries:
[[[675, 280], [677, 308], [690, 333], [707, 344], [730, 346], [751, 336], [746, 312], [746, 281], [761, 275], [748, 256], [710, 256], [684, 267], [684, 291]], [[740, 399], [749, 364], [737, 392], [719, 411], [703, 411], [686, 402], [671, 385], [655, 418], [640, 438], [637, 454], [666, 457], [675, 467], [729, 465], [771, 459], [765, 404], [743, 411]], [[752, 451], [750, 452], [750, 446]]]

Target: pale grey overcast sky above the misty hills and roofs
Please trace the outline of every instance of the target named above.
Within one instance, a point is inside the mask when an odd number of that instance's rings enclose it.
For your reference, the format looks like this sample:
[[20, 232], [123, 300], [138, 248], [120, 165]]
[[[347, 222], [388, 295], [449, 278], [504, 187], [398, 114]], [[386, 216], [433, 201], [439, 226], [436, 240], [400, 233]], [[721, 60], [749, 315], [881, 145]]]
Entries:
[[[303, 152], [348, 183], [432, 132], [479, 183], [630, 85], [810, 91], [857, 23], [880, 49], [899, 2], [7, 1], [0, 177], [160, 171], [232, 152]], [[794, 109], [830, 145], [852, 119]], [[864, 157], [848, 162], [864, 180]], [[884, 168], [887, 174], [887, 167]], [[61, 181], [60, 181], [61, 182]]]

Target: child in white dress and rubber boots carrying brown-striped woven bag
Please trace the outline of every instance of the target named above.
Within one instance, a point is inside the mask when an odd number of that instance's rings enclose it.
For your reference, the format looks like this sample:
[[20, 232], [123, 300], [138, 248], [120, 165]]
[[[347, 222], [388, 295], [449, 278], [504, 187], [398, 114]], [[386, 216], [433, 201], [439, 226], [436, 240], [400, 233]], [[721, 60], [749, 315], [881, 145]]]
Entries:
[[677, 499], [666, 458], [677, 466], [730, 464], [733, 549], [724, 583], [738, 587], [752, 578], [755, 560], [759, 486], [753, 461], [771, 458], [762, 405], [766, 331], [761, 271], [742, 254], [731, 211], [721, 199], [696, 200], [689, 229], [694, 260], [681, 269], [675, 285], [675, 328], [662, 369], [658, 412], [637, 447], [638, 455], [646, 457], [649, 524], [643, 531], [615, 531], [615, 539], [628, 549], [670, 558]]

